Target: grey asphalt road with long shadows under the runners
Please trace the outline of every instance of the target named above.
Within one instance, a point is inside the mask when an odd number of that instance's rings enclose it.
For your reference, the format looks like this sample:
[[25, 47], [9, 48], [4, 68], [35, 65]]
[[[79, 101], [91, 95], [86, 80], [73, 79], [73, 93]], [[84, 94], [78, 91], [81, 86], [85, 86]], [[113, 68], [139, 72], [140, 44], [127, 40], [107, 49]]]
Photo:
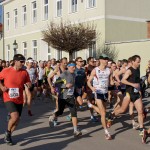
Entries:
[[[143, 100], [144, 105], [150, 106], [150, 98]], [[0, 150], [149, 150], [150, 138], [147, 144], [141, 143], [141, 137], [137, 130], [133, 130], [130, 117], [127, 114], [118, 117], [109, 129], [113, 136], [111, 141], [104, 138], [104, 130], [100, 122], [90, 121], [89, 110], [79, 111], [79, 128], [83, 132], [81, 138], [73, 137], [73, 127], [66, 120], [69, 114], [65, 110], [59, 118], [59, 125], [50, 128], [48, 117], [54, 109], [54, 102], [43, 99], [36, 100], [32, 105], [34, 116], [27, 115], [27, 108], [23, 114], [17, 130], [13, 133], [14, 146], [8, 146], [3, 142], [4, 132], [7, 128], [7, 111], [0, 102]], [[145, 126], [150, 127], [150, 115]]]

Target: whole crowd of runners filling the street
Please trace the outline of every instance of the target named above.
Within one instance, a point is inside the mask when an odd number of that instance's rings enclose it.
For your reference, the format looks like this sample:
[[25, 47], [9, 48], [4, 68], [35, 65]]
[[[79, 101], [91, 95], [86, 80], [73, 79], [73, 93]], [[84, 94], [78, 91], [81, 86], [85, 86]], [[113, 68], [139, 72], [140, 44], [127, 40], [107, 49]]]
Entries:
[[[27, 113], [32, 116], [32, 101], [47, 97], [56, 102], [49, 117], [50, 127], [57, 126], [59, 116], [69, 108], [70, 114], [66, 118], [72, 121], [74, 137], [81, 136], [77, 111], [86, 104], [90, 120], [98, 122], [100, 115], [105, 139], [111, 140], [108, 129], [114, 119], [129, 108], [133, 129], [139, 130], [142, 143], [146, 143], [150, 129], [145, 129], [144, 120], [150, 107], [143, 107], [145, 87], [141, 84], [140, 62], [138, 55], [114, 62], [106, 54], [100, 55], [99, 59], [89, 57], [87, 61], [82, 57], [68, 61], [64, 57], [58, 61], [53, 58], [37, 62], [31, 57], [26, 60], [21, 54], [14, 55], [11, 61], [0, 60], [0, 94], [2, 97], [3, 93], [8, 110], [4, 141], [13, 145], [12, 133], [19, 123], [24, 105], [27, 104]], [[150, 62], [146, 68], [146, 82], [149, 86]], [[134, 119], [134, 108], [138, 121]]]

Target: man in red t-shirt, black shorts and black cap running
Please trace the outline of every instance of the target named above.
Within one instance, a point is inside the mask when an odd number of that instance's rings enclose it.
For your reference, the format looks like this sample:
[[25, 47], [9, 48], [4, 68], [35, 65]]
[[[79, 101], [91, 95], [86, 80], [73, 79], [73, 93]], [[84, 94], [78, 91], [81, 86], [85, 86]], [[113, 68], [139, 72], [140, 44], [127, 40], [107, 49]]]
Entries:
[[0, 84], [0, 88], [3, 91], [4, 103], [10, 113], [8, 128], [4, 137], [4, 141], [9, 145], [13, 145], [11, 134], [18, 125], [22, 113], [24, 86], [31, 87], [29, 75], [26, 70], [22, 69], [25, 57], [16, 54], [13, 60], [13, 67], [5, 68], [0, 72], [0, 80], [4, 80], [4, 84]]

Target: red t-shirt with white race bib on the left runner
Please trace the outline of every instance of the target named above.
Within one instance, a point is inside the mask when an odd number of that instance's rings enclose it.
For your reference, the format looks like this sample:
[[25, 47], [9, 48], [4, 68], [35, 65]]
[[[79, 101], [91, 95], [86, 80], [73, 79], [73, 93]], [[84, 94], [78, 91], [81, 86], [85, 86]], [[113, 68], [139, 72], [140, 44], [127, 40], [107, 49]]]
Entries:
[[4, 102], [12, 101], [16, 104], [23, 104], [24, 84], [30, 82], [26, 70], [15, 70], [14, 67], [5, 68], [0, 72], [0, 80], [4, 79], [4, 86], [9, 90], [3, 92]]

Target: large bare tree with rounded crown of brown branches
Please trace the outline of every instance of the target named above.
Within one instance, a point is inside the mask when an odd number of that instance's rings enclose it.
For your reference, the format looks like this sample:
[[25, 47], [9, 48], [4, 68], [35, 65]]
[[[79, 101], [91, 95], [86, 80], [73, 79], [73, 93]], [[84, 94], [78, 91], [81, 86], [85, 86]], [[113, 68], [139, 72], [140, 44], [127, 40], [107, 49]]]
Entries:
[[75, 51], [88, 48], [92, 40], [96, 39], [94, 24], [72, 24], [71, 22], [56, 24], [51, 22], [48, 28], [42, 31], [43, 40], [51, 47], [69, 53], [69, 59]]

